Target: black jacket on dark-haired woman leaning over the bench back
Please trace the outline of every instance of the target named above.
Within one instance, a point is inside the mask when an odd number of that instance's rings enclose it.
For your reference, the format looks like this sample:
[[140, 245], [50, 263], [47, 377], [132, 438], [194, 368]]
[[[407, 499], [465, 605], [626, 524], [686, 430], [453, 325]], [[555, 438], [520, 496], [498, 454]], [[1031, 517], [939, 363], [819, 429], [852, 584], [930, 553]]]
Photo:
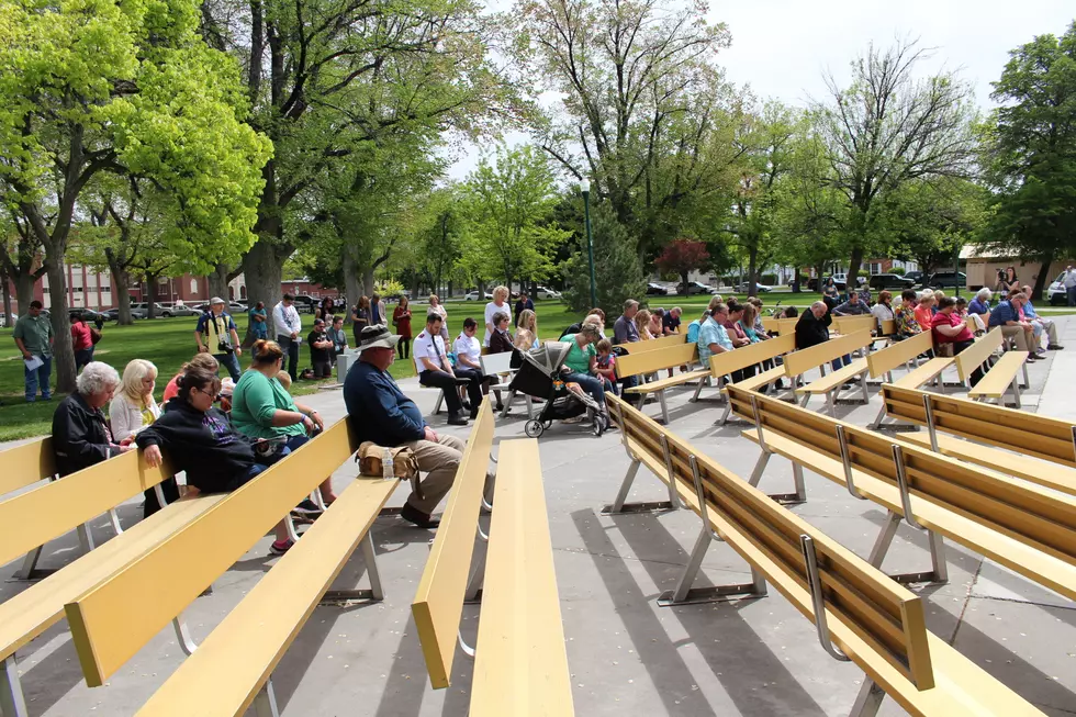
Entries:
[[168, 402], [160, 418], [135, 436], [138, 448], [159, 446], [172, 470], [203, 493], [234, 491], [255, 462], [253, 439], [237, 433], [218, 408], [205, 413], [181, 396]]

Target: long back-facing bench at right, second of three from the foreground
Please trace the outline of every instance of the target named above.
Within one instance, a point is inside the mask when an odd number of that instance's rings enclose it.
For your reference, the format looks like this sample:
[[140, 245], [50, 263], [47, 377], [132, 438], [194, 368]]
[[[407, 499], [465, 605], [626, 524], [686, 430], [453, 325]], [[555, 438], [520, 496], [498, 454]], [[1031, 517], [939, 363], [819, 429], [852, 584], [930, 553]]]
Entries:
[[885, 507], [868, 558], [878, 568], [901, 519], [928, 534], [932, 570], [896, 580], [946, 582], [946, 537], [1076, 598], [1076, 498], [758, 393], [737, 392], [732, 400], [735, 411], [755, 422], [743, 436], [762, 447], [752, 485], [780, 455]]

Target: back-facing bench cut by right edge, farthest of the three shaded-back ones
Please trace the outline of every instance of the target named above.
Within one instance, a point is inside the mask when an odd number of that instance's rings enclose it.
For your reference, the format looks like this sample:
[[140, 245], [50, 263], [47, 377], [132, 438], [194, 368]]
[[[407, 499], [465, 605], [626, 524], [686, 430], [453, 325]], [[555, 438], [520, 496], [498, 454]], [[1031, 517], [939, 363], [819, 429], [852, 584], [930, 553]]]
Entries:
[[898, 385], [883, 385], [882, 400], [889, 416], [926, 426], [904, 440], [1076, 495], [1076, 426], [1067, 421]]

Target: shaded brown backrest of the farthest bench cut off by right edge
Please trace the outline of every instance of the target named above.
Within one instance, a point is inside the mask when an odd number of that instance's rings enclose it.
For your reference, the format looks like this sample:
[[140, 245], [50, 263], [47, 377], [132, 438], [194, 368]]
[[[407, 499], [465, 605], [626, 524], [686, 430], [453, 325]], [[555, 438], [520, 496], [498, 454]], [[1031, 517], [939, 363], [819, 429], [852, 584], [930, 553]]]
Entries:
[[930, 401], [939, 430], [1076, 468], [1076, 426], [1067, 421], [887, 383], [882, 400], [887, 414], [921, 426]]

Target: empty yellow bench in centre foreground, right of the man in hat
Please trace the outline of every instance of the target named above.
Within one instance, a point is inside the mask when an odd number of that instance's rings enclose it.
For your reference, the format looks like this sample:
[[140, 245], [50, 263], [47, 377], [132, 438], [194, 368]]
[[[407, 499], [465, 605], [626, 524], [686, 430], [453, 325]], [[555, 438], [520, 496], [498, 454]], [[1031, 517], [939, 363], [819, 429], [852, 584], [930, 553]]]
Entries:
[[[486, 536], [479, 514], [487, 456], [464, 455], [412, 603], [429, 682], [437, 690], [451, 684], [459, 641], [475, 658], [471, 715], [572, 715], [538, 445], [500, 444], [504, 480], [496, 481]], [[484, 561], [474, 556], [477, 537], [489, 542]], [[459, 635], [468, 598], [482, 603], [477, 649]]]

